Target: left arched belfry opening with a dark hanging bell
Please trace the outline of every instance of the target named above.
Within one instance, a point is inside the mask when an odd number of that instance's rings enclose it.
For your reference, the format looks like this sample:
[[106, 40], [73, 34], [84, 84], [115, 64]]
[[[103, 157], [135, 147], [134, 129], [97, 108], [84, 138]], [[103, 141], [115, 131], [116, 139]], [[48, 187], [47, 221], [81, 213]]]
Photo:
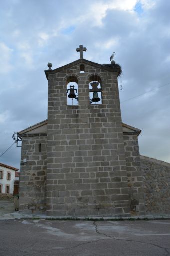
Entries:
[[78, 80], [75, 76], [67, 78], [67, 105], [78, 105]]

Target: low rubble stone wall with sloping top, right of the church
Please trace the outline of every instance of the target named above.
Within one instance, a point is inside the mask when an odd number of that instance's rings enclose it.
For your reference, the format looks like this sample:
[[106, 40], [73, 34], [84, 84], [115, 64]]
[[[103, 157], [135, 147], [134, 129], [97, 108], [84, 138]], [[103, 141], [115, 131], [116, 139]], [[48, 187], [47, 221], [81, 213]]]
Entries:
[[170, 163], [140, 156], [147, 214], [170, 214]]

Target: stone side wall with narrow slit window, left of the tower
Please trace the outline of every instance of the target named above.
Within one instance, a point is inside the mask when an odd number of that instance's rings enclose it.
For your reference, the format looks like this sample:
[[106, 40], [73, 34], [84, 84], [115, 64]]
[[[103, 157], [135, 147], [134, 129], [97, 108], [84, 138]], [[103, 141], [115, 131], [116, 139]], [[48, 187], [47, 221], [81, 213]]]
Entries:
[[[41, 143], [41, 152], [39, 144]], [[27, 134], [22, 137], [19, 211], [46, 211], [46, 135]], [[27, 159], [24, 163], [23, 159]]]

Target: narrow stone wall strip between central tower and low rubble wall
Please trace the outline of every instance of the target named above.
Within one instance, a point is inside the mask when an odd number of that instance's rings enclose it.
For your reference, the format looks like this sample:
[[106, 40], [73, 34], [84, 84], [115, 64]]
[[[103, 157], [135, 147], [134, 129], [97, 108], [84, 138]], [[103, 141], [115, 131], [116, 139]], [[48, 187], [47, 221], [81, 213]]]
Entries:
[[143, 177], [140, 166], [138, 136], [124, 134], [128, 192], [132, 215], [145, 215]]

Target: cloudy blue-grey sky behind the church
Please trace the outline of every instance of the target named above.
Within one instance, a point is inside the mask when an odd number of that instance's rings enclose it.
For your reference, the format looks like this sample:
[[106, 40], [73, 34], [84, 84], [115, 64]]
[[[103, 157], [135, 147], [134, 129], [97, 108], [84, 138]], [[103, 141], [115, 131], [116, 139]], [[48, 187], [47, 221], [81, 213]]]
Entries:
[[[47, 63], [79, 59], [80, 44], [84, 58], [100, 64], [116, 52], [122, 121], [142, 130], [142, 155], [170, 162], [169, 0], [1, 1], [0, 132], [47, 118]], [[13, 142], [0, 134], [0, 154]], [[0, 162], [19, 168], [20, 147]]]

